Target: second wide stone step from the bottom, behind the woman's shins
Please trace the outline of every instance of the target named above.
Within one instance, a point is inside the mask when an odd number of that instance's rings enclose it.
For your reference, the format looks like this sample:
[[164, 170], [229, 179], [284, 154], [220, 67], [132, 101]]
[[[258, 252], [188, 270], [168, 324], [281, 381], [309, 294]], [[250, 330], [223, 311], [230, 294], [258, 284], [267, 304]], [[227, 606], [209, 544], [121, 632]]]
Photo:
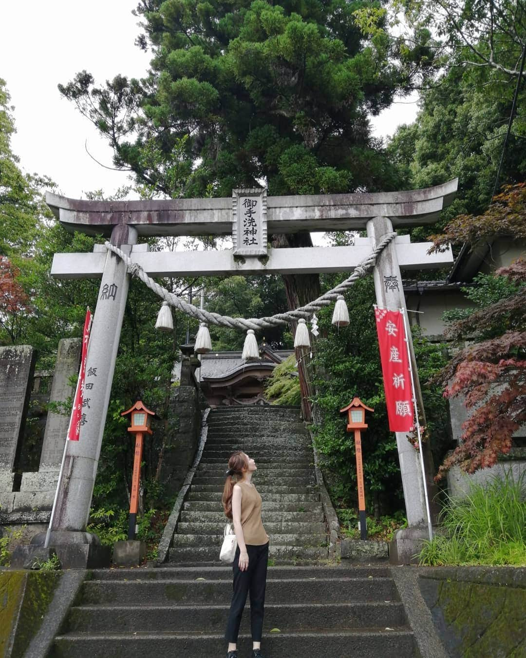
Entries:
[[[67, 632], [126, 633], [185, 631], [224, 632], [229, 605], [79, 605], [71, 609]], [[250, 617], [241, 621], [241, 633], [250, 632]], [[402, 603], [270, 603], [265, 606], [263, 632], [272, 628], [298, 632], [322, 627], [324, 630], [404, 626]]]

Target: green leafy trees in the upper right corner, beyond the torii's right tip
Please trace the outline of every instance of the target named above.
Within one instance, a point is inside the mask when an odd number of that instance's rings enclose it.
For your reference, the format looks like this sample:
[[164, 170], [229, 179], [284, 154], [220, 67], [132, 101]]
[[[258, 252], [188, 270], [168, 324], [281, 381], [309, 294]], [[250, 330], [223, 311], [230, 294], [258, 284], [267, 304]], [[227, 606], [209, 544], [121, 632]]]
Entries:
[[[412, 30], [425, 27], [436, 35], [429, 43], [434, 42], [442, 65], [437, 78], [421, 91], [416, 122], [398, 128], [388, 151], [406, 189], [458, 176], [458, 195], [435, 226], [442, 230], [457, 215], [483, 213], [491, 201], [519, 74], [526, 14], [520, 3], [508, 0], [397, 0], [397, 5], [406, 12]], [[526, 121], [520, 111], [525, 101], [522, 84], [500, 182], [525, 178]], [[412, 234], [421, 239], [430, 232], [424, 227]]]

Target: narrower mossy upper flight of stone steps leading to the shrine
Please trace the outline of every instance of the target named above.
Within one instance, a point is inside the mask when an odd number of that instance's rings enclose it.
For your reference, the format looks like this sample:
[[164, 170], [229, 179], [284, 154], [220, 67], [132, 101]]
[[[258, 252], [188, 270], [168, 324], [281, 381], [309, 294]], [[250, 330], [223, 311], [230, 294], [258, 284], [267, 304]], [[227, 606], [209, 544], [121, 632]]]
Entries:
[[316, 488], [310, 436], [295, 407], [227, 407], [208, 415], [208, 438], [172, 539], [168, 562], [219, 561], [221, 495], [228, 458], [243, 450], [256, 460], [252, 482], [263, 499], [271, 564], [327, 560], [327, 532]]

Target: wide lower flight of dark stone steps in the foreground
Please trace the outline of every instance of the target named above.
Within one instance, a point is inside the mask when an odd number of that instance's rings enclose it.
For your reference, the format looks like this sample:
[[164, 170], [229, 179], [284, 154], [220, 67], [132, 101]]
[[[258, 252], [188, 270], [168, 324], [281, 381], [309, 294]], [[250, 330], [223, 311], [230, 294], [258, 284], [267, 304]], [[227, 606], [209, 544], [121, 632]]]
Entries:
[[[231, 567], [108, 569], [91, 576], [51, 658], [226, 655]], [[251, 649], [248, 607], [240, 658]], [[270, 567], [262, 647], [266, 658], [416, 655], [389, 567]]]

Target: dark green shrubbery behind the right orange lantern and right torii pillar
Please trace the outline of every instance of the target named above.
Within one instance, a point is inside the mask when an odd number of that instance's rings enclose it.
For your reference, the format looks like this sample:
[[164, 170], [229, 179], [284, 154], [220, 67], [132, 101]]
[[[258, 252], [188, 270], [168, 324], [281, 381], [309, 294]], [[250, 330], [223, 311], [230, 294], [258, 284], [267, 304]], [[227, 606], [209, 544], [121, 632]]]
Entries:
[[[330, 279], [325, 282], [331, 285]], [[331, 326], [331, 310], [320, 311], [320, 338], [314, 362], [317, 368], [317, 393], [314, 403], [321, 414], [314, 426], [314, 440], [325, 468], [332, 474], [329, 490], [336, 507], [354, 507], [356, 503], [356, 455], [354, 437], [345, 431], [345, 418], [339, 414], [358, 395], [374, 409], [368, 415], [368, 429], [362, 437], [366, 503], [392, 512], [401, 505], [402, 492], [396, 437], [389, 432], [385, 393], [373, 315], [374, 288], [371, 277], [358, 280], [346, 295], [350, 324], [336, 330]], [[446, 359], [440, 346], [415, 334], [421, 380]], [[427, 436], [435, 452], [443, 453], [447, 440], [447, 411], [442, 390], [437, 385], [423, 388], [424, 406], [429, 417]], [[428, 408], [429, 407], [429, 408]], [[442, 456], [442, 455], [441, 455]], [[389, 492], [389, 495], [386, 495]], [[378, 509], [375, 509], [378, 514]]]

